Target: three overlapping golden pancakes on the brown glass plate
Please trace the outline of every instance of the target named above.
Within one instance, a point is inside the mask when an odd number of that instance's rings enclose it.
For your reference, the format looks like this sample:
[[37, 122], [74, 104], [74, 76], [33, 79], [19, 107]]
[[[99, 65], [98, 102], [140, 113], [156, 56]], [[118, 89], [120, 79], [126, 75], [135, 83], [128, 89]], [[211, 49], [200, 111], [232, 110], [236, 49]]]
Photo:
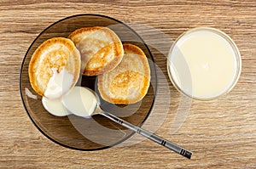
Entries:
[[29, 77], [33, 89], [44, 97], [53, 70], [67, 70], [73, 76], [69, 90], [80, 74], [98, 76], [102, 99], [113, 104], [137, 103], [148, 92], [150, 83], [148, 59], [143, 50], [122, 44], [112, 30], [100, 26], [80, 28], [68, 38], [54, 37], [37, 48], [29, 64]]

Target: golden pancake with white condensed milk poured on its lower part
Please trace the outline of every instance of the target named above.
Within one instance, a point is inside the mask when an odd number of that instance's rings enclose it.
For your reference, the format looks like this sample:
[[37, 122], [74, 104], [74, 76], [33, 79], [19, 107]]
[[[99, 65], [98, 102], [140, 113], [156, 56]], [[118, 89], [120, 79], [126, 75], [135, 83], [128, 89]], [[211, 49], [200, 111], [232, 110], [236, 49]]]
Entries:
[[78, 82], [80, 64], [79, 50], [70, 39], [51, 38], [32, 54], [28, 67], [32, 88], [48, 99], [60, 98]]

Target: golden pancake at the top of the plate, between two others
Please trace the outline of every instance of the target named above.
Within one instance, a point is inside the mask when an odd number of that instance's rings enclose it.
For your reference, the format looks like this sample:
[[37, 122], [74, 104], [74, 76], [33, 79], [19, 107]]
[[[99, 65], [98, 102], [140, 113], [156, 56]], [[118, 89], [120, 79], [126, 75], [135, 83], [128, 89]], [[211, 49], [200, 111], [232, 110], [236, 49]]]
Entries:
[[84, 27], [69, 37], [81, 54], [81, 71], [85, 76], [96, 76], [119, 65], [124, 49], [119, 37], [107, 27]]

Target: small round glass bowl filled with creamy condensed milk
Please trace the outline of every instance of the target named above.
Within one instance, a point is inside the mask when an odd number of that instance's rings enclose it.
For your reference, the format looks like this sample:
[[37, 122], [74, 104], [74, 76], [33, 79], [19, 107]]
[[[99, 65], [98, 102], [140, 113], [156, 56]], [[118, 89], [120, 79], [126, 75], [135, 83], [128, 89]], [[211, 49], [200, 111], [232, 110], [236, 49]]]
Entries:
[[194, 28], [173, 43], [167, 70], [181, 93], [193, 99], [216, 99], [236, 85], [241, 74], [241, 55], [236, 43], [223, 31]]

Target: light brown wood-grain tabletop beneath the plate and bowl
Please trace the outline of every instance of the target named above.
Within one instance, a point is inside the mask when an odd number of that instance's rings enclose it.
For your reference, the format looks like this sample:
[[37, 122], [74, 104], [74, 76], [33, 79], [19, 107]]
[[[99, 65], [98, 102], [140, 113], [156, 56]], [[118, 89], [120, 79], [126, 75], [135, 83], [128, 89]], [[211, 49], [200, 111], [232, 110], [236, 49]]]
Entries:
[[[0, 2], [0, 168], [256, 168], [254, 0], [54, 2]], [[236, 42], [242, 59], [236, 87], [219, 99], [192, 100], [189, 114], [176, 132], [171, 131], [172, 121], [182, 96], [169, 82], [171, 104], [167, 105], [169, 111], [164, 121], [157, 124], [155, 133], [192, 150], [191, 160], [149, 140], [90, 152], [67, 149], [45, 138], [34, 127], [19, 91], [20, 65], [26, 50], [48, 25], [84, 13], [154, 27], [173, 40], [190, 28], [212, 26]], [[166, 59], [156, 61], [166, 75]], [[165, 97], [165, 92], [160, 92], [160, 98]], [[155, 106], [160, 109], [162, 105]]]

